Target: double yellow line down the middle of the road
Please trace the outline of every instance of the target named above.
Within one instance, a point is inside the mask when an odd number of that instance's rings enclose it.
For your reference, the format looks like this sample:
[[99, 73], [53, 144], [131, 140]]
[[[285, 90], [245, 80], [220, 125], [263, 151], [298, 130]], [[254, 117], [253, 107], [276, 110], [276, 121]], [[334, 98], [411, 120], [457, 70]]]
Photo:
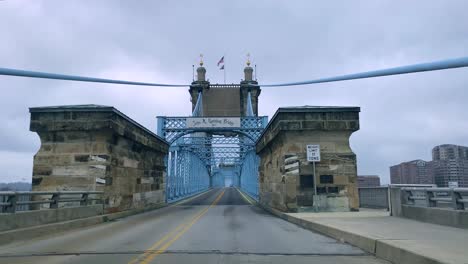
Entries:
[[190, 221], [184, 222], [181, 225], [177, 226], [171, 232], [163, 236], [160, 240], [156, 241], [151, 247], [145, 250], [145, 253], [141, 256], [130, 261], [128, 264], [150, 263], [157, 255], [160, 255], [166, 251], [177, 239], [179, 239], [185, 232], [187, 232], [203, 215], [205, 215], [208, 210], [215, 206], [221, 197], [224, 195], [224, 190], [216, 197], [216, 199], [211, 203], [210, 206], [201, 210], [196, 214]]

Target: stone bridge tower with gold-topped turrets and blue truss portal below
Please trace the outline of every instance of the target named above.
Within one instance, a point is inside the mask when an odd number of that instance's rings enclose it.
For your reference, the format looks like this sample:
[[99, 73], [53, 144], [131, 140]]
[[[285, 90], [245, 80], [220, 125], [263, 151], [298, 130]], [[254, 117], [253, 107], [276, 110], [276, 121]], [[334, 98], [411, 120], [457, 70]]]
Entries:
[[166, 199], [175, 201], [210, 187], [239, 187], [258, 199], [255, 143], [268, 118], [258, 116], [260, 87], [253, 69], [240, 84], [210, 84], [203, 62], [190, 86], [192, 115], [157, 117], [159, 136], [171, 145], [166, 157]]

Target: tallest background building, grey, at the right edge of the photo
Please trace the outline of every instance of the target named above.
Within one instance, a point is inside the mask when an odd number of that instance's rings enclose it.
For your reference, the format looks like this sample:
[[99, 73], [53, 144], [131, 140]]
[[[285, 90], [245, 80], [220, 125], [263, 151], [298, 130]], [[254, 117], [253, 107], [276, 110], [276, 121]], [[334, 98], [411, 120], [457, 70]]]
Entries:
[[440, 145], [432, 149], [435, 183], [439, 187], [468, 187], [468, 147]]

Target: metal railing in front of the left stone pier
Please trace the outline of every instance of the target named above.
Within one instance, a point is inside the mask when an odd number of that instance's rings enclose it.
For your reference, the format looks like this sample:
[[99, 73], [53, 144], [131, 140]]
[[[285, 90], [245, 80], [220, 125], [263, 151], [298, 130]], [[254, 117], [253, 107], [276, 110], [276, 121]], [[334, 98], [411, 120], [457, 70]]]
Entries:
[[[86, 206], [93, 201], [102, 202], [101, 197], [96, 197], [103, 192], [96, 191], [62, 191], [62, 192], [0, 192], [0, 212], [15, 213], [16, 211], [30, 210], [30, 205], [48, 205], [48, 208], [59, 208], [62, 203], [63, 207], [70, 206]], [[38, 199], [34, 197], [42, 196]], [[50, 197], [47, 197], [50, 196]], [[91, 197], [95, 196], [95, 197]], [[18, 210], [20, 209], [20, 210]]]

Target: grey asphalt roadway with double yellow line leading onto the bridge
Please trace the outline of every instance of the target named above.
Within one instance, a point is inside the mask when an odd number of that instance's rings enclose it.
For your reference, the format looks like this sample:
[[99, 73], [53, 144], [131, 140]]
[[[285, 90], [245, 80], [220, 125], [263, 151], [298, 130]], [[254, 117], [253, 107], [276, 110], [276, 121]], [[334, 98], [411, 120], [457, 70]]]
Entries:
[[251, 205], [235, 188], [0, 247], [0, 263], [387, 263]]

